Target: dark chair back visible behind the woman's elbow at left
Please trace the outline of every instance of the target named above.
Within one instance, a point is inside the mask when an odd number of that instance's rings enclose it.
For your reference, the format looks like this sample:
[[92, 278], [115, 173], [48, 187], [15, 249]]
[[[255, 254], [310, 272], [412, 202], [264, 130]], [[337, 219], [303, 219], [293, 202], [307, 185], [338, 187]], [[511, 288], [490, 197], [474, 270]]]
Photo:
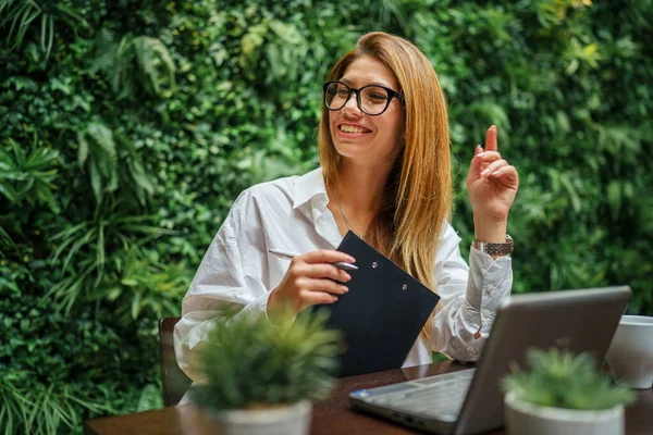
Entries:
[[174, 325], [181, 318], [164, 318], [159, 322], [159, 369], [163, 405], [175, 406], [188, 390], [192, 381], [180, 369], [174, 355]]

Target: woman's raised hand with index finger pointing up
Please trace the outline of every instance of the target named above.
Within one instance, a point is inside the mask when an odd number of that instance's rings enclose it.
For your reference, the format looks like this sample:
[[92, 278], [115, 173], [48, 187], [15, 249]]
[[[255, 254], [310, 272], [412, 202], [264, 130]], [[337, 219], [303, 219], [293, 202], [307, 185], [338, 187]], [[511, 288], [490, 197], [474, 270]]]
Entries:
[[475, 220], [507, 221], [518, 187], [517, 170], [497, 151], [496, 126], [493, 125], [485, 136], [485, 149], [477, 146], [467, 175], [467, 191]]

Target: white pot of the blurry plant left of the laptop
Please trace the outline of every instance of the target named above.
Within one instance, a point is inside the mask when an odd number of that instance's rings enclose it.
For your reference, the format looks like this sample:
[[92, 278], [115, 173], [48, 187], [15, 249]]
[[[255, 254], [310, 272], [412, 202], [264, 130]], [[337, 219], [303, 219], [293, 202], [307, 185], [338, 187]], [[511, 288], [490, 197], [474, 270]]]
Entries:
[[312, 403], [250, 410], [232, 410], [212, 415], [220, 435], [308, 435]]

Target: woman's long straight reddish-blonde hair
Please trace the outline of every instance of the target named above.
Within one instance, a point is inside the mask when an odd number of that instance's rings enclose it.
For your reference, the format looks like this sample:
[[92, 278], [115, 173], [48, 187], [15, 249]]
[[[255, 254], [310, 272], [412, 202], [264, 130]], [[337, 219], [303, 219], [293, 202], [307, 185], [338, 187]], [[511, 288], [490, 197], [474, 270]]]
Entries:
[[[412, 44], [381, 32], [364, 35], [331, 70], [340, 79], [356, 59], [379, 60], [394, 74], [405, 97], [405, 145], [390, 173], [381, 208], [366, 240], [407, 273], [435, 291], [433, 265], [443, 225], [449, 220], [452, 174], [448, 120], [444, 94], [427, 57]], [[340, 156], [322, 105], [318, 149], [324, 184], [335, 191]], [[430, 337], [429, 322], [422, 334]]]

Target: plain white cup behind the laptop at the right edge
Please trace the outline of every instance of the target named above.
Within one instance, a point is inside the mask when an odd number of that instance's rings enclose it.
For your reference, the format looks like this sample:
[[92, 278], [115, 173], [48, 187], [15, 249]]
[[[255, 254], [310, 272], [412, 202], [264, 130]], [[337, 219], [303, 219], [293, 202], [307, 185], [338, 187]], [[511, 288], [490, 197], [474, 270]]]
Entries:
[[653, 318], [621, 315], [606, 358], [616, 382], [628, 384], [632, 388], [651, 388]]

